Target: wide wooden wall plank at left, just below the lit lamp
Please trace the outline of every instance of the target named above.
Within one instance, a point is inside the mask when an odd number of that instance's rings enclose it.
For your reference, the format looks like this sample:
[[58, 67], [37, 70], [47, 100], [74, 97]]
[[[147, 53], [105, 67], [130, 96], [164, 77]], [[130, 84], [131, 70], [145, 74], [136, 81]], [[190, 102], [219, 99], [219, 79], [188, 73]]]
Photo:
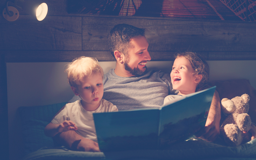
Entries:
[[82, 50], [81, 17], [48, 16], [38, 21], [20, 15], [9, 22], [0, 18], [0, 50]]

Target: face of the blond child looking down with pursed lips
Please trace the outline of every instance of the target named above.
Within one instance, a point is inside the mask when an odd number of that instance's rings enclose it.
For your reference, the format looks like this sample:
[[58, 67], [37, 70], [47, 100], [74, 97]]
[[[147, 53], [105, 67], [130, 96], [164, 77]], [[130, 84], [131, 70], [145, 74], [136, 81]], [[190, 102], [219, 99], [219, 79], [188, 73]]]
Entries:
[[82, 106], [87, 111], [93, 111], [100, 106], [103, 96], [103, 82], [100, 73], [92, 73], [89, 77], [84, 77], [81, 84], [71, 87], [75, 95], [80, 95]]

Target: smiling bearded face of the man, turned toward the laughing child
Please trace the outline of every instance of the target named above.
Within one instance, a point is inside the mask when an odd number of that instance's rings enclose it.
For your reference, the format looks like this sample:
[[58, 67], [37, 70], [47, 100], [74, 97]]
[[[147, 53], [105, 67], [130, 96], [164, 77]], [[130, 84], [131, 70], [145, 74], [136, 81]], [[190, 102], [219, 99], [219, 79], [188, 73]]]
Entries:
[[146, 63], [151, 60], [148, 53], [148, 41], [145, 36], [133, 37], [125, 54], [124, 68], [132, 76], [140, 76], [146, 70]]

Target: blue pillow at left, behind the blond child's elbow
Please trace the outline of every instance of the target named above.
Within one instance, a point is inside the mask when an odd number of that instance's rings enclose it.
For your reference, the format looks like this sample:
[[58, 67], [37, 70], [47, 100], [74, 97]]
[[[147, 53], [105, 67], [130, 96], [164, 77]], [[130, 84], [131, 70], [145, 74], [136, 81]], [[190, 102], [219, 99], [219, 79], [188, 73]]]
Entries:
[[44, 135], [44, 128], [66, 103], [19, 108], [25, 155], [42, 147], [54, 147], [52, 138]]

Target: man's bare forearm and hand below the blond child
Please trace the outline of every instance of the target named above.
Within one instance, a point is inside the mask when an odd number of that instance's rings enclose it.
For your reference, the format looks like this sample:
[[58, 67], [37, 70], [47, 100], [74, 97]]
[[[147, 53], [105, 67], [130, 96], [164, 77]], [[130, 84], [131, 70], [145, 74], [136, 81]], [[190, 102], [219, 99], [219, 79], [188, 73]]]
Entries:
[[75, 131], [61, 132], [53, 138], [71, 150], [100, 152], [98, 143], [80, 136]]

